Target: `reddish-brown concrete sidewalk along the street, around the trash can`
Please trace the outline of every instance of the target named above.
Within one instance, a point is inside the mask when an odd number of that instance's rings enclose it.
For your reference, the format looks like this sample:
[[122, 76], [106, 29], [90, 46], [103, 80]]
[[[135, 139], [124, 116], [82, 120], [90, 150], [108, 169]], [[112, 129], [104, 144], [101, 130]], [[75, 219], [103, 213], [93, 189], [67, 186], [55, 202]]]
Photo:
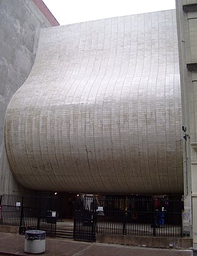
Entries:
[[[0, 255], [34, 255], [23, 252], [25, 236], [0, 233]], [[46, 238], [46, 256], [191, 256], [191, 250], [151, 249], [98, 242]]]

